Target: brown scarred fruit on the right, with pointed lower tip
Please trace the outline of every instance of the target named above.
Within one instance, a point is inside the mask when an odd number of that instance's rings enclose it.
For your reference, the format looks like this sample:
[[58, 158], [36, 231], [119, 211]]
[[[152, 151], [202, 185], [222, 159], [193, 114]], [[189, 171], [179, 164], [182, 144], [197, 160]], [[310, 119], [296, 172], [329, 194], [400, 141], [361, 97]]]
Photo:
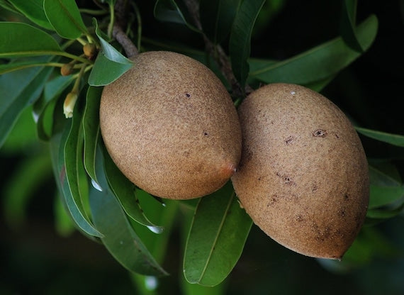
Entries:
[[232, 183], [249, 216], [291, 250], [341, 259], [369, 204], [366, 156], [347, 117], [293, 84], [257, 89], [239, 116], [242, 159]]

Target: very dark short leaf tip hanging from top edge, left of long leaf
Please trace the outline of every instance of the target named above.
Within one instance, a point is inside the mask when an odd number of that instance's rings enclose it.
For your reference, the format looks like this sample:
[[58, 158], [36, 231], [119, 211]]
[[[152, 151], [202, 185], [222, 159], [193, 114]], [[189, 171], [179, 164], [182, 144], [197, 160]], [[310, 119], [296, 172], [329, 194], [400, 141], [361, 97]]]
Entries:
[[214, 43], [223, 42], [232, 28], [241, 0], [201, 0], [199, 13], [203, 33]]

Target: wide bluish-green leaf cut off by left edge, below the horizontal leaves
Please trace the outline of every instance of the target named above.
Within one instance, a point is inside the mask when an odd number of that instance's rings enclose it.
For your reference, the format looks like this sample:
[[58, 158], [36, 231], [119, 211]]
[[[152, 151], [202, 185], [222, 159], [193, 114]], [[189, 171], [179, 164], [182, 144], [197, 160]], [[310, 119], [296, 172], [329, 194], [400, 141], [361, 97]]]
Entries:
[[50, 72], [49, 67], [33, 67], [0, 76], [0, 147], [24, 108], [38, 99]]

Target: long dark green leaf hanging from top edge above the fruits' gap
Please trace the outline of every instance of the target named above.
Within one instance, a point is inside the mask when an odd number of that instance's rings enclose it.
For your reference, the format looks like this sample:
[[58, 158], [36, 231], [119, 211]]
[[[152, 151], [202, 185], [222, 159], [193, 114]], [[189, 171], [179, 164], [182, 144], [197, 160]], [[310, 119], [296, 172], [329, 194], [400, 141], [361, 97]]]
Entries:
[[265, 0], [244, 0], [237, 11], [229, 41], [232, 70], [242, 88], [249, 74], [252, 28]]

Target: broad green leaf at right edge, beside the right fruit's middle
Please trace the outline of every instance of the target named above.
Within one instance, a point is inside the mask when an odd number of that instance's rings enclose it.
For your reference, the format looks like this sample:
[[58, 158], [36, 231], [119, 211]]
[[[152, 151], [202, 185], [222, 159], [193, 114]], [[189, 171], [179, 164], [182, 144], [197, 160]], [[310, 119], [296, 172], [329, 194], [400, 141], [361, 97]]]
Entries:
[[369, 166], [369, 178], [369, 209], [392, 204], [404, 196], [403, 184], [376, 167]]

